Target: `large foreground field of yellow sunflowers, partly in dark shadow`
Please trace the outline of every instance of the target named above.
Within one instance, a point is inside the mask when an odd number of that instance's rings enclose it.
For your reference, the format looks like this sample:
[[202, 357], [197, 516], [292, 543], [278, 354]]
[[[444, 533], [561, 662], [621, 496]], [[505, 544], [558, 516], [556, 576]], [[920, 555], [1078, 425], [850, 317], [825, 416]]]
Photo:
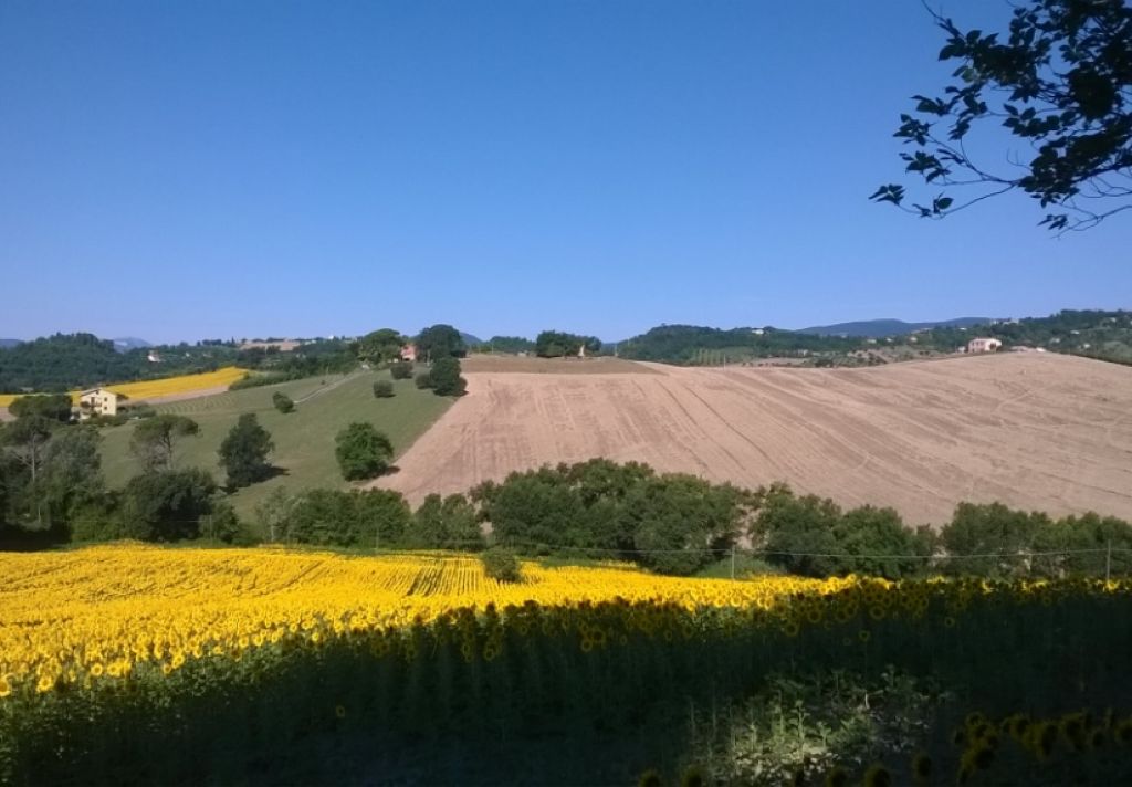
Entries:
[[[5, 554], [0, 572], [5, 784], [629, 784], [677, 773], [696, 709], [771, 673], [893, 666], [993, 720], [924, 736], [940, 784], [1001, 784], [984, 750], [1009, 739], [1056, 760], [1127, 737], [1132, 755], [1124, 580], [526, 563], [499, 583], [444, 553], [132, 544]], [[1035, 732], [1065, 713], [1070, 733]]]

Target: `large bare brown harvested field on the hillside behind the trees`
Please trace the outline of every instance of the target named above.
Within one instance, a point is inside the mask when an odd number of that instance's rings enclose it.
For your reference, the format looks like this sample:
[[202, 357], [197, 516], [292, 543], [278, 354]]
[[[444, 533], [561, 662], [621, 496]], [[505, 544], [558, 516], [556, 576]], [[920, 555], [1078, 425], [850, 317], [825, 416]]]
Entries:
[[418, 502], [593, 456], [940, 524], [961, 501], [1132, 519], [1132, 368], [1054, 353], [866, 369], [500, 374], [469, 393], [381, 484]]

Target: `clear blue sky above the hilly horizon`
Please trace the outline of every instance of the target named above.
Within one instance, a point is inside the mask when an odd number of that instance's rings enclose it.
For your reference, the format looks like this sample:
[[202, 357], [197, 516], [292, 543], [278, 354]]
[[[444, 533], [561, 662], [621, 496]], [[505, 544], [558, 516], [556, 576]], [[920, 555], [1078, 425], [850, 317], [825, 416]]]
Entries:
[[867, 202], [941, 35], [912, 0], [3, 0], [0, 336], [1132, 306], [1127, 217]]

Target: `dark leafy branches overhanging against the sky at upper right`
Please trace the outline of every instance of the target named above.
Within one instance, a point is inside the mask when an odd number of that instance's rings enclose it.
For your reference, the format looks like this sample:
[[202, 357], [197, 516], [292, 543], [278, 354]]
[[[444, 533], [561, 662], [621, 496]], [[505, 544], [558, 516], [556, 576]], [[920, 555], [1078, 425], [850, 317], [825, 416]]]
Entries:
[[[1132, 7], [1123, 0], [1031, 0], [1014, 8], [1005, 43], [998, 33], [962, 31], [932, 12], [947, 41], [940, 60], [957, 60], [940, 97], [912, 96], [895, 137], [906, 172], [946, 190], [929, 204], [903, 205], [904, 187], [881, 186], [876, 202], [941, 219], [988, 197], [1021, 190], [1047, 213], [1050, 230], [1082, 230], [1132, 208]], [[1006, 156], [1005, 171], [970, 153], [976, 125], [997, 123], [1034, 148]], [[993, 138], [993, 137], [992, 137]]]

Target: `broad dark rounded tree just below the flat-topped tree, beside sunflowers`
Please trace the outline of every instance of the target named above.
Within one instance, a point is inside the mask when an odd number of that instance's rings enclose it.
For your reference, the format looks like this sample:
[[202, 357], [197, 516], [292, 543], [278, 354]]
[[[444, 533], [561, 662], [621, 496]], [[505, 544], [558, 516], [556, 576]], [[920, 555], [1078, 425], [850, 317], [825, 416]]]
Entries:
[[122, 534], [147, 541], [196, 538], [216, 482], [199, 468], [135, 476], [122, 490]]

